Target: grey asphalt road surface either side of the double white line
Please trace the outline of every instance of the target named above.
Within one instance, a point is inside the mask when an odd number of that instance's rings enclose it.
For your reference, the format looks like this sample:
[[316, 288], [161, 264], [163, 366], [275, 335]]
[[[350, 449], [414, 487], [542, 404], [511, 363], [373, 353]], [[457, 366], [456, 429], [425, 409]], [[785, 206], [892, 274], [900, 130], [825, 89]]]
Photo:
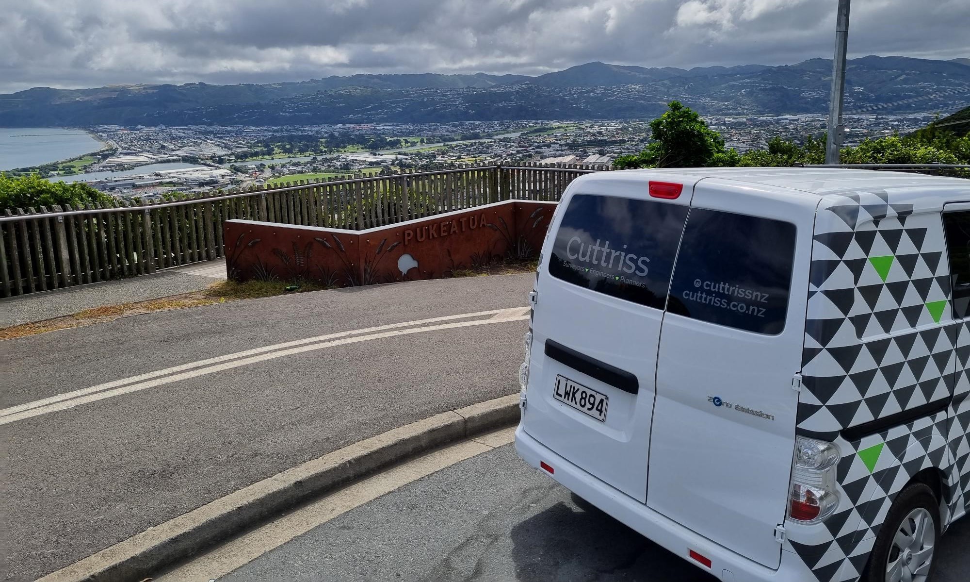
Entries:
[[[282, 341], [525, 307], [532, 283], [501, 275], [321, 291], [7, 340], [0, 407]], [[511, 394], [527, 328], [505, 321], [327, 347], [3, 424], [0, 579], [33, 579], [352, 442]]]

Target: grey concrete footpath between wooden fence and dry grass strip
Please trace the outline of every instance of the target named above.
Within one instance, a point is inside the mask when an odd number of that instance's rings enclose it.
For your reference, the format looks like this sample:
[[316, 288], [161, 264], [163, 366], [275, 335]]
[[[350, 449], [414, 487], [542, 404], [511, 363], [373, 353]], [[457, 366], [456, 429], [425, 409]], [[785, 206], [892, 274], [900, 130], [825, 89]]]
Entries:
[[0, 327], [71, 315], [95, 307], [147, 301], [205, 289], [226, 278], [225, 259], [116, 281], [67, 287], [0, 300]]

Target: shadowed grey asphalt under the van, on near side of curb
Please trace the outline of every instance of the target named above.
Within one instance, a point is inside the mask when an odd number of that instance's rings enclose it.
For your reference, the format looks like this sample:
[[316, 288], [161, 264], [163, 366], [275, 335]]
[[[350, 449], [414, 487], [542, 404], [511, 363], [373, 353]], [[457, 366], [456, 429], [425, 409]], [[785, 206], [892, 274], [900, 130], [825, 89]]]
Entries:
[[[943, 538], [936, 582], [970, 575], [970, 521]], [[512, 445], [414, 481], [220, 582], [715, 582], [527, 466]]]

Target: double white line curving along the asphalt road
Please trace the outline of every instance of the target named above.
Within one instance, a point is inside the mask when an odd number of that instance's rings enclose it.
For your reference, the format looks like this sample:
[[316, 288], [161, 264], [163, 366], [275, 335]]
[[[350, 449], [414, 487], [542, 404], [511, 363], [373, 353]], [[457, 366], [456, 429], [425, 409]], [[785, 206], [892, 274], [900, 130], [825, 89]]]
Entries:
[[294, 341], [274, 343], [273, 345], [264, 345], [263, 347], [255, 347], [224, 356], [173, 366], [165, 370], [157, 370], [155, 372], [121, 378], [104, 384], [98, 384], [97, 386], [58, 394], [31, 403], [17, 404], [16, 406], [0, 410], [0, 425], [49, 414], [50, 412], [56, 412], [58, 410], [65, 410], [80, 404], [93, 403], [123, 394], [138, 392], [146, 388], [178, 382], [178, 380], [231, 370], [246, 366], [247, 364], [265, 362], [267, 360], [274, 360], [275, 358], [282, 358], [284, 356], [317, 349], [360, 341], [370, 341], [372, 339], [393, 338], [395, 336], [422, 334], [425, 332], [436, 332], [439, 330], [502, 323], [506, 321], [521, 321], [523, 319], [529, 319], [529, 307], [513, 307], [511, 309], [492, 309], [489, 311], [460, 313], [458, 315], [444, 315], [430, 319], [404, 321], [402, 323], [392, 323], [327, 334], [325, 336], [316, 336], [315, 338], [296, 339]]

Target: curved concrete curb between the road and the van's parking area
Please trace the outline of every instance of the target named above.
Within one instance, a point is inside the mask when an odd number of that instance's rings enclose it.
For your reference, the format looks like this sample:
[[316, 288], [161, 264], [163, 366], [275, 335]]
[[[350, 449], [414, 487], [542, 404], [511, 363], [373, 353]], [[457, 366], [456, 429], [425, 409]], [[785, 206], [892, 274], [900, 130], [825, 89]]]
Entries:
[[436, 414], [286, 469], [148, 528], [38, 582], [142, 580], [301, 501], [442, 444], [508, 426], [518, 418], [518, 394]]

